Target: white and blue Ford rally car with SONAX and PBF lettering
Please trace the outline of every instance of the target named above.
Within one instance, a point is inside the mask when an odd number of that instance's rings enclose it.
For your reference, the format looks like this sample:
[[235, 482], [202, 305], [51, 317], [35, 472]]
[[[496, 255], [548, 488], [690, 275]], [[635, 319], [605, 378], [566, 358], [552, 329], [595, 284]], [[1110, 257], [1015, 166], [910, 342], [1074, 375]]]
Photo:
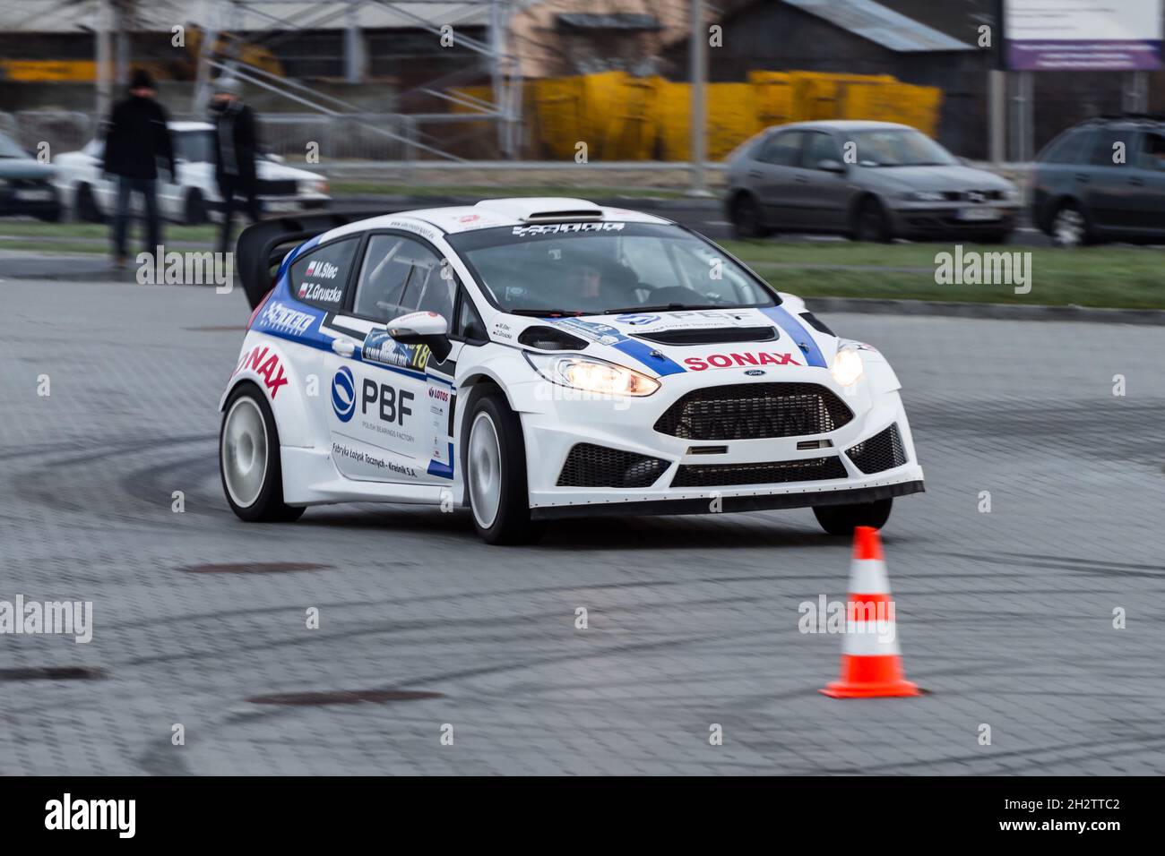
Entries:
[[219, 459], [242, 519], [465, 505], [497, 544], [557, 517], [812, 507], [848, 533], [923, 490], [885, 359], [665, 219], [553, 198], [320, 214], [252, 226], [238, 259], [255, 311]]

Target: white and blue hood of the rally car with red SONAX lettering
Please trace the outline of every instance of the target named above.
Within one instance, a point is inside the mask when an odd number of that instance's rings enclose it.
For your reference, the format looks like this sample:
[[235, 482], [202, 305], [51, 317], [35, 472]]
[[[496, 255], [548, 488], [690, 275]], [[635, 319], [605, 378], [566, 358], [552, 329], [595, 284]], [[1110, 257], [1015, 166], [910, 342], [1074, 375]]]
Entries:
[[789, 375], [828, 366], [838, 339], [816, 331], [798, 309], [627, 312], [565, 318], [503, 316], [499, 339], [520, 342], [527, 327], [552, 327], [586, 342], [584, 353], [656, 375], [723, 372]]

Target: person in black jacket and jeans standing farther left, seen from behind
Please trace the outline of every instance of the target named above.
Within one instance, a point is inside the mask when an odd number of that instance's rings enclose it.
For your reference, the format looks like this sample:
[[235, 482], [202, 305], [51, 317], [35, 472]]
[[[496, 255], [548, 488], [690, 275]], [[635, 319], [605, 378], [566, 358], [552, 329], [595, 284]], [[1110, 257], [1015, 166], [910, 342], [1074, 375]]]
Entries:
[[146, 208], [147, 253], [157, 253], [162, 245], [162, 226], [157, 215], [157, 162], [162, 158], [174, 169], [174, 143], [167, 126], [165, 108], [154, 100], [154, 80], [139, 69], [129, 82], [129, 97], [118, 101], [110, 113], [105, 134], [103, 169], [118, 177], [118, 205], [113, 217], [113, 263], [125, 268], [128, 262], [126, 229], [132, 193], [141, 193]]

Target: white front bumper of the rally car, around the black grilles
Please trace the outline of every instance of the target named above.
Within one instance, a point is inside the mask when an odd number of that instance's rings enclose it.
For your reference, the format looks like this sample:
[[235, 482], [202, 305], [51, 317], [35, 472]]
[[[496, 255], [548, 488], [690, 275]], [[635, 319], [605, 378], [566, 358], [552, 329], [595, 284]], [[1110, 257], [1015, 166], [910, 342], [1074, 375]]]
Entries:
[[[664, 380], [659, 391], [645, 398], [621, 402], [555, 399], [536, 411], [522, 412], [534, 516], [797, 508], [870, 502], [923, 490], [923, 469], [915, 455], [910, 424], [896, 390], [875, 389], [874, 380], [864, 376], [847, 395], [824, 368], [799, 369], [796, 380], [751, 381], [742, 373], [733, 374], [730, 380], [704, 373], [672, 375]], [[748, 382], [816, 383], [836, 395], [853, 417], [840, 427], [822, 433], [762, 439], [694, 440], [655, 430], [657, 419], [689, 392]], [[541, 389], [542, 397], [548, 396], [548, 390], [556, 398], [565, 398], [569, 394], [553, 384], [543, 384]], [[901, 464], [863, 472], [847, 450], [884, 437], [891, 426], [897, 426], [901, 439]], [[564, 476], [564, 467], [579, 444], [643, 455], [662, 464], [655, 465], [658, 474], [654, 480], [641, 487], [571, 486], [576, 480]], [[714, 451], [709, 452], [709, 447]], [[895, 460], [899, 460], [897, 454]], [[778, 474], [778, 481], [757, 481], [772, 473]], [[825, 477], [829, 473], [836, 477]], [[802, 474], [810, 477], [785, 480]], [[720, 477], [730, 483], [718, 483]], [[748, 483], [740, 483], [741, 477]], [[699, 487], [692, 487], [693, 481], [698, 481]]]

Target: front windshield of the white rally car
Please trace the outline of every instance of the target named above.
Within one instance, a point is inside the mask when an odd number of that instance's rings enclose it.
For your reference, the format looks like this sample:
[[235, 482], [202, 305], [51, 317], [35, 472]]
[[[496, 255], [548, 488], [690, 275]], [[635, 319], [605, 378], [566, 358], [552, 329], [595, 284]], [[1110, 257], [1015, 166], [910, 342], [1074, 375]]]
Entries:
[[450, 238], [490, 300], [515, 314], [772, 306], [776, 295], [678, 226], [576, 222]]

